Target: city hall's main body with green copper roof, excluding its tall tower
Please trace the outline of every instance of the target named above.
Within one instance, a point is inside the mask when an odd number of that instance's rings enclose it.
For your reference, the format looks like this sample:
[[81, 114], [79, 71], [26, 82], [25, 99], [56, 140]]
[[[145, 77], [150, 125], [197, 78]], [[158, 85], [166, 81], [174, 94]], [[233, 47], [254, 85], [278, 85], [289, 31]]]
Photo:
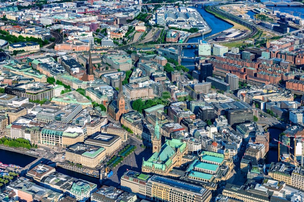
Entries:
[[166, 140], [160, 150], [154, 152], [148, 160], [143, 160], [142, 172], [167, 176], [173, 167], [182, 164], [182, 157], [188, 153], [188, 146], [181, 140]]

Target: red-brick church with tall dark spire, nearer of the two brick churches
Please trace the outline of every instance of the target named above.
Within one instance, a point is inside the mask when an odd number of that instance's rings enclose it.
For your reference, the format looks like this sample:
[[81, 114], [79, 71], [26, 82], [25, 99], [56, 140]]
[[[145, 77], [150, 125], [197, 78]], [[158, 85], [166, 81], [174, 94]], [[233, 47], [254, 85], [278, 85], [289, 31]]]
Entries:
[[121, 77], [119, 78], [119, 92], [116, 100], [112, 100], [108, 106], [108, 114], [115, 121], [119, 121], [121, 115], [129, 112], [129, 109], [126, 107], [125, 98], [123, 96], [123, 85]]

